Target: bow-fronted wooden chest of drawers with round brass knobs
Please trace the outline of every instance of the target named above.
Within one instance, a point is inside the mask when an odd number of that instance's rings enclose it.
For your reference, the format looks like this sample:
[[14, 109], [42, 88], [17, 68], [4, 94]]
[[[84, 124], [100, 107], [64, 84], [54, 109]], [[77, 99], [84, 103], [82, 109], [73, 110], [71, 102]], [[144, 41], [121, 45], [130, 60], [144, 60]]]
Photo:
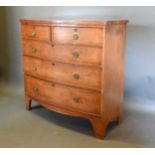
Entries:
[[95, 136], [122, 121], [126, 20], [21, 19], [26, 109], [31, 101], [88, 119]]

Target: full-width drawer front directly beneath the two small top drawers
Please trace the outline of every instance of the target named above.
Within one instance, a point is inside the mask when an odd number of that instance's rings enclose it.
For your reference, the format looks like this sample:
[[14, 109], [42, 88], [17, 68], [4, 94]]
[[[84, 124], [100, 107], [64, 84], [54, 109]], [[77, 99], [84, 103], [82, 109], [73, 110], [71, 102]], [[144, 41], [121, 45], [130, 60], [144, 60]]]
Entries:
[[52, 47], [48, 43], [23, 40], [24, 55], [34, 56], [46, 60], [58, 60], [66, 63], [77, 63], [86, 65], [100, 65], [101, 48], [82, 46]]

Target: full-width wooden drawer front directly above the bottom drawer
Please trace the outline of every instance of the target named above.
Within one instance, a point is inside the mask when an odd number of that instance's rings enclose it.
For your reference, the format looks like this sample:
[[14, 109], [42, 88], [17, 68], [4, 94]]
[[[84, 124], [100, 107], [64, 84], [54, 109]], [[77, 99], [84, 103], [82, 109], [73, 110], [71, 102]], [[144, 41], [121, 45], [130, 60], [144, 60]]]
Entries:
[[81, 67], [24, 57], [24, 71], [35, 77], [79, 86], [100, 89], [101, 71], [96, 67]]

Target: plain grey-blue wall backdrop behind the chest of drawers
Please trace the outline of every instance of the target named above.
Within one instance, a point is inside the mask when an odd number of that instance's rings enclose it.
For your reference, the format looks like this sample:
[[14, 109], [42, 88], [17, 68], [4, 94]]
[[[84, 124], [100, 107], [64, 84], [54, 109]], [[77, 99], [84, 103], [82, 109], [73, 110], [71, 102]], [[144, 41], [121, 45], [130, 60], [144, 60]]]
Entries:
[[128, 19], [125, 96], [155, 100], [155, 7], [0, 7], [0, 76], [23, 86], [20, 18]]

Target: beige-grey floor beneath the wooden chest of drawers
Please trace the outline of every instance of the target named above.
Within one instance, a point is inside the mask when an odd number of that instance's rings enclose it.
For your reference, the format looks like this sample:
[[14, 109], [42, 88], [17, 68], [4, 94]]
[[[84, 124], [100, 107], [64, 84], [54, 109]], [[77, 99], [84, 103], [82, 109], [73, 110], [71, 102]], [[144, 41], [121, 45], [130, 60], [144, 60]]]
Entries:
[[155, 147], [155, 115], [125, 103], [120, 126], [108, 127], [104, 140], [93, 136], [87, 120], [37, 106], [25, 110], [23, 89], [0, 84], [0, 147]]

